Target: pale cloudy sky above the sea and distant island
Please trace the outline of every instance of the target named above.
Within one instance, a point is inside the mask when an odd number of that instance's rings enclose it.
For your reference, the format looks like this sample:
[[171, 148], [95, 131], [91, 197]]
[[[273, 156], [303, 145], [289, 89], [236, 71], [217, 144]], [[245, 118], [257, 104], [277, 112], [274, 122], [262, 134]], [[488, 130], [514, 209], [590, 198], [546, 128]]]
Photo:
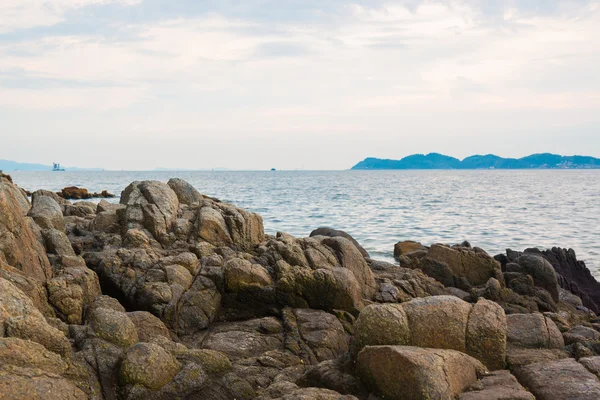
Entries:
[[0, 159], [600, 157], [600, 0], [1, 0]]

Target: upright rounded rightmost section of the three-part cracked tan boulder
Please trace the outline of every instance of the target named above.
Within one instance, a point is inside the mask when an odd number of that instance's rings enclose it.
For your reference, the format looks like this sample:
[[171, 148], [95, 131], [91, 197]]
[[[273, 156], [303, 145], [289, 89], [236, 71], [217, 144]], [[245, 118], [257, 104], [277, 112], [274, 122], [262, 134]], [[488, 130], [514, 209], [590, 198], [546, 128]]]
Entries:
[[504, 310], [493, 301], [479, 299], [473, 306], [467, 324], [467, 354], [490, 370], [506, 364], [507, 322]]

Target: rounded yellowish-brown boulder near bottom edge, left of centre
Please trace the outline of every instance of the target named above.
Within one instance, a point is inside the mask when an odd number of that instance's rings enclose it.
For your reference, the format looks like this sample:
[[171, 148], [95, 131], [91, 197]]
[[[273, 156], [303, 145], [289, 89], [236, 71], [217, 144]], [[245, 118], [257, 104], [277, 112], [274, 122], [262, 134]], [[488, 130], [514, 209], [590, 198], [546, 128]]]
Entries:
[[158, 390], [169, 383], [180, 369], [179, 362], [162, 347], [138, 343], [127, 351], [119, 376], [123, 384]]

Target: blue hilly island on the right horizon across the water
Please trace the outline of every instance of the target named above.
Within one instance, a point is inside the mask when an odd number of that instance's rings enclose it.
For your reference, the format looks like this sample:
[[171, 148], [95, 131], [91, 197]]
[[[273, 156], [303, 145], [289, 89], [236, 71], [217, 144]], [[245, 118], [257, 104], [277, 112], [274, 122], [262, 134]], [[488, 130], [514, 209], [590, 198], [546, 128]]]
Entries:
[[558, 154], [532, 154], [523, 158], [503, 158], [494, 154], [474, 155], [459, 160], [439, 153], [413, 154], [401, 160], [365, 158], [351, 169], [595, 169], [600, 168], [600, 158], [587, 156], [560, 156]]

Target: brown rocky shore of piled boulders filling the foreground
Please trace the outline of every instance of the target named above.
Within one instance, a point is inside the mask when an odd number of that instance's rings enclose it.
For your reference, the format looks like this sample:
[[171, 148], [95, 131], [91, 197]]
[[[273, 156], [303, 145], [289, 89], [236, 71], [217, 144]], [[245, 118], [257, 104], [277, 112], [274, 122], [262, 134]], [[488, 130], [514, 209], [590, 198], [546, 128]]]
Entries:
[[596, 400], [572, 250], [264, 233], [187, 182], [71, 203], [0, 176], [0, 399]]

